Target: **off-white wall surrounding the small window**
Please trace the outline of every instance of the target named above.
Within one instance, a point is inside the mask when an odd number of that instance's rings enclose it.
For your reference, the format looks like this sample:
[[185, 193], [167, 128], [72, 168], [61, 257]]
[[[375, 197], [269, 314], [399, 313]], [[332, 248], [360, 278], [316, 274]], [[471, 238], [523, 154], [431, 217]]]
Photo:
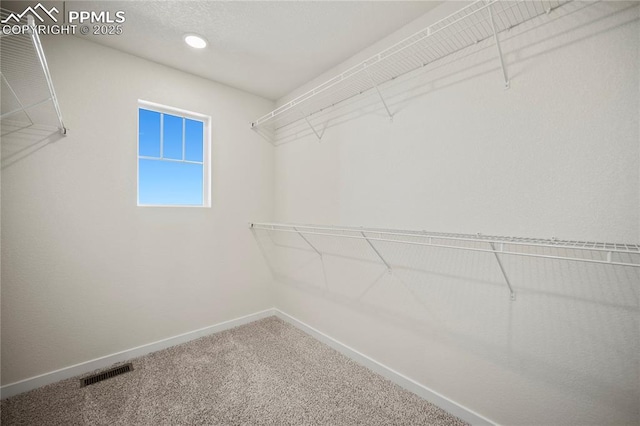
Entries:
[[[3, 157], [2, 383], [273, 306], [247, 230], [273, 212], [273, 148], [250, 130], [273, 103], [78, 37], [43, 43], [70, 132]], [[136, 207], [139, 98], [212, 117], [211, 208]]]

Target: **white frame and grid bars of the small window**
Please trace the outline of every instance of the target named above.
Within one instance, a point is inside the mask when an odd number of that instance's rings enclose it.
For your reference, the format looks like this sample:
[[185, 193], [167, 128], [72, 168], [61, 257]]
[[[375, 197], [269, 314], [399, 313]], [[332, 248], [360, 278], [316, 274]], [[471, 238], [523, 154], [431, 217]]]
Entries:
[[[155, 111], [163, 114], [171, 114], [178, 117], [189, 118], [192, 120], [201, 121], [204, 125], [203, 140], [202, 140], [202, 205], [187, 205], [187, 204], [140, 204], [140, 108]], [[137, 135], [136, 139], [136, 198], [138, 207], [211, 207], [211, 117], [208, 115], [200, 114], [198, 112], [187, 111], [185, 109], [170, 107], [167, 105], [158, 104], [155, 102], [149, 102], [142, 99], [138, 99], [138, 107], [136, 108], [136, 123], [137, 123]], [[164, 129], [162, 129], [164, 131]], [[162, 143], [162, 142], [161, 142]], [[183, 144], [184, 144], [183, 140]], [[162, 150], [160, 151], [162, 155]], [[183, 146], [184, 156], [184, 146]], [[186, 160], [172, 160], [160, 158], [157, 161], [178, 161], [189, 162]], [[198, 163], [199, 164], [199, 163]]]

